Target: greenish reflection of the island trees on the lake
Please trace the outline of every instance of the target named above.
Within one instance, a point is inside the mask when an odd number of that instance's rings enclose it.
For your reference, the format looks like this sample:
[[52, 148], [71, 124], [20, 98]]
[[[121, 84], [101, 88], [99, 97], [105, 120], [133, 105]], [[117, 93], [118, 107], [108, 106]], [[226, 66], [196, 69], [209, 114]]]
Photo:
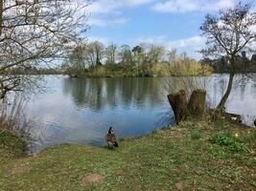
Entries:
[[160, 81], [154, 78], [64, 78], [64, 96], [71, 96], [78, 108], [100, 112], [121, 107], [152, 109], [162, 102]]

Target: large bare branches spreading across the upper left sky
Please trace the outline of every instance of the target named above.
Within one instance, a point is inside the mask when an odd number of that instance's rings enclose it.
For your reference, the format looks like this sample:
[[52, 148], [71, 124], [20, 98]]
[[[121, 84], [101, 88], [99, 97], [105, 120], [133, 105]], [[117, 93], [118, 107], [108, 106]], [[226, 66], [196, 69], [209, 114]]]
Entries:
[[13, 69], [49, 66], [85, 32], [82, 3], [69, 0], [0, 0], [0, 98], [35, 83]]

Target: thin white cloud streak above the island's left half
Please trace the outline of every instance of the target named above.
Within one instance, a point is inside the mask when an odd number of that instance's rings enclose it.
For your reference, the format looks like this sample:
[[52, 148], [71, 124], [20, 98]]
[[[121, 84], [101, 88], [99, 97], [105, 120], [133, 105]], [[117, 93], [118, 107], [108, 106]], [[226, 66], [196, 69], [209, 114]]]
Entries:
[[116, 18], [112, 20], [105, 20], [100, 18], [93, 18], [91, 17], [88, 20], [88, 25], [90, 26], [97, 26], [97, 27], [105, 27], [105, 26], [113, 26], [113, 25], [124, 25], [128, 23], [129, 19], [125, 17]]

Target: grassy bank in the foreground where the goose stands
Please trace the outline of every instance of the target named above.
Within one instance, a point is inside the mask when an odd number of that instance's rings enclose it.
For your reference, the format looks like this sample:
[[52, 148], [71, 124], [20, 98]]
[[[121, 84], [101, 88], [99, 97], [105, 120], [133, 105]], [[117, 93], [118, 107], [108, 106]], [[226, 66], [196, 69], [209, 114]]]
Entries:
[[[12, 147], [10, 147], [12, 148]], [[0, 190], [253, 190], [256, 130], [190, 120], [108, 150], [60, 145], [6, 160]], [[7, 155], [8, 156], [8, 155]]]

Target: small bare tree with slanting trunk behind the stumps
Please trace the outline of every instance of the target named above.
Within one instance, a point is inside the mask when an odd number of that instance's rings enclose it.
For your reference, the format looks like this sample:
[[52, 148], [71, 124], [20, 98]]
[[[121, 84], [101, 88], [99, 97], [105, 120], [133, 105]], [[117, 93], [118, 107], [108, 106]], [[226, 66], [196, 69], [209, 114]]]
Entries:
[[230, 65], [229, 82], [225, 94], [217, 108], [222, 110], [232, 90], [236, 73], [236, 57], [242, 52], [250, 52], [251, 43], [256, 39], [252, 30], [256, 24], [256, 13], [251, 12], [251, 5], [239, 3], [236, 7], [220, 11], [219, 16], [206, 15], [200, 27], [202, 36], [206, 37], [205, 55], [224, 55]]

